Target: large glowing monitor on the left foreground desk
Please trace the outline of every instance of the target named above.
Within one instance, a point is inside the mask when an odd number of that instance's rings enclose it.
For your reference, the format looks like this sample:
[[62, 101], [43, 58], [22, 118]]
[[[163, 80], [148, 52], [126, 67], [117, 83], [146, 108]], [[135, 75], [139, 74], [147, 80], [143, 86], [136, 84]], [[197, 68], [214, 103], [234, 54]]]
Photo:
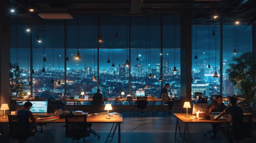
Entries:
[[30, 111], [33, 115], [47, 115], [47, 101], [30, 101], [33, 105]]

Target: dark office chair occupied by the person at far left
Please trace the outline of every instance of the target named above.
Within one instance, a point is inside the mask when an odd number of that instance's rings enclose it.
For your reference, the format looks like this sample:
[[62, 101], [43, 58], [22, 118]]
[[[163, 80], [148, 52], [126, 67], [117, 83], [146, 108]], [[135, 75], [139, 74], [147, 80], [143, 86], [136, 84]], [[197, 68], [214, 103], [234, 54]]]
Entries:
[[[29, 116], [8, 115], [9, 120], [9, 138], [18, 140], [18, 143], [24, 143], [28, 137], [34, 136], [37, 131], [36, 123], [30, 125]], [[35, 132], [31, 130], [35, 129]]]

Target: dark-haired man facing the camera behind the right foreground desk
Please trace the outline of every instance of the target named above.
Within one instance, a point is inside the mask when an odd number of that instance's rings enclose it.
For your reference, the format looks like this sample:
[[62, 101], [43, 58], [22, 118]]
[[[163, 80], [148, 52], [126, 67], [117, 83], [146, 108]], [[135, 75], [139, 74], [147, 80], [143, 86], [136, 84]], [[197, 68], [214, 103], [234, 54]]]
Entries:
[[[222, 103], [223, 99], [221, 95], [216, 96], [215, 98], [216, 101], [213, 101], [210, 106], [209, 106], [209, 114], [212, 114], [212, 112], [223, 112], [224, 109], [226, 108], [225, 104]], [[217, 126], [219, 124], [213, 123], [213, 136], [211, 139], [217, 138]]]

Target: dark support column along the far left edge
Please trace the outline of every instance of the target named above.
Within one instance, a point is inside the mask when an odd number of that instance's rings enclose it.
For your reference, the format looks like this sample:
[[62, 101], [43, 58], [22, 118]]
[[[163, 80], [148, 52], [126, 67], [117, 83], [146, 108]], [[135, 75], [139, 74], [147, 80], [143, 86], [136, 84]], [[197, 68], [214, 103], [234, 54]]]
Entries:
[[[10, 18], [9, 0], [2, 0], [0, 9], [0, 106], [7, 103], [10, 109]], [[9, 114], [7, 110], [5, 114]], [[4, 111], [0, 111], [0, 116]]]

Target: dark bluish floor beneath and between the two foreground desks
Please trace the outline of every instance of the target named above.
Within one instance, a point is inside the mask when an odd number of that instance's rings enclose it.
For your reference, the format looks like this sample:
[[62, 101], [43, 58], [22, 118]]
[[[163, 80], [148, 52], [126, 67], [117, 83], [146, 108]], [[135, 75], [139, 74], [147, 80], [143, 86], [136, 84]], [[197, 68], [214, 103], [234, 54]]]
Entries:
[[[71, 138], [65, 138], [65, 128], [62, 123], [48, 124], [43, 126], [43, 129], [49, 130], [54, 134], [52, 137], [49, 134], [40, 134], [37, 138], [30, 137], [26, 143], [77, 143]], [[180, 123], [181, 132], [184, 130], [184, 124]], [[108, 132], [112, 124], [94, 123], [92, 129], [100, 134], [101, 138], [91, 134], [85, 138], [85, 143], [105, 143]], [[182, 143], [183, 138], [177, 134], [177, 139], [174, 138], [176, 127], [176, 118], [171, 114], [163, 115], [162, 112], [150, 115], [133, 115], [125, 113], [123, 123], [121, 124], [121, 143]], [[38, 128], [39, 130], [39, 128]], [[205, 132], [211, 130], [210, 124], [189, 124], [190, 142], [191, 143], [229, 143], [220, 132], [221, 139], [210, 139], [212, 134], [204, 136]], [[183, 135], [183, 134], [182, 134]], [[186, 138], [187, 139], [187, 138]], [[6, 139], [7, 140], [7, 139]], [[0, 140], [1, 141], [1, 140]], [[83, 143], [83, 139], [80, 139]], [[117, 133], [114, 135], [112, 143], [118, 142]], [[188, 142], [188, 141], [185, 141]], [[244, 139], [239, 143], [255, 143], [255, 136], [253, 139]], [[1, 142], [2, 143], [2, 142]], [[9, 140], [5, 143], [18, 143], [18, 141]]]

